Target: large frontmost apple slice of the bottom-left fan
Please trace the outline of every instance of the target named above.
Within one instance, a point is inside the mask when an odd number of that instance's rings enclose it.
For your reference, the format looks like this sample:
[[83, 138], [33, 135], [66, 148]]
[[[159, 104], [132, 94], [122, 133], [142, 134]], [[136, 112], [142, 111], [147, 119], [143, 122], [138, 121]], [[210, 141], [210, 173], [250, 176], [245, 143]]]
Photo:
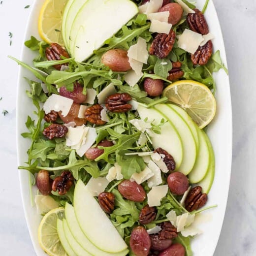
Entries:
[[74, 210], [82, 231], [98, 249], [108, 253], [127, 249], [127, 244], [81, 180], [75, 186]]

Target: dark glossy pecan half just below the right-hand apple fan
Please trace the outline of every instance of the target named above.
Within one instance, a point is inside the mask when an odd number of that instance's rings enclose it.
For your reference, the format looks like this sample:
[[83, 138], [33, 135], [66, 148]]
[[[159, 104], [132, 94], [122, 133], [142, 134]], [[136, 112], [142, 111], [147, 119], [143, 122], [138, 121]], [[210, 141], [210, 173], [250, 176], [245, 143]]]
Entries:
[[202, 188], [200, 186], [196, 186], [192, 188], [192, 190], [187, 195], [185, 200], [185, 208], [192, 212], [204, 206], [207, 201], [207, 194], [202, 193]]

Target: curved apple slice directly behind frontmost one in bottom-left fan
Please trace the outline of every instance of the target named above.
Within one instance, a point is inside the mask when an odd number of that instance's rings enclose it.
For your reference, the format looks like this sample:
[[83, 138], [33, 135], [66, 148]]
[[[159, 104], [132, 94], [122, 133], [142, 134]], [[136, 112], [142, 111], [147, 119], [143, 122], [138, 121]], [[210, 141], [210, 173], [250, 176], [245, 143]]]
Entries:
[[75, 238], [75, 240], [90, 254], [94, 256], [126, 256], [128, 254], [128, 249], [121, 253], [106, 253], [99, 250], [96, 246], [94, 246], [86, 237], [86, 235], [81, 230], [79, 223], [77, 222], [75, 211], [72, 205], [66, 203], [65, 204], [65, 218], [67, 221], [67, 225], [71, 234]]

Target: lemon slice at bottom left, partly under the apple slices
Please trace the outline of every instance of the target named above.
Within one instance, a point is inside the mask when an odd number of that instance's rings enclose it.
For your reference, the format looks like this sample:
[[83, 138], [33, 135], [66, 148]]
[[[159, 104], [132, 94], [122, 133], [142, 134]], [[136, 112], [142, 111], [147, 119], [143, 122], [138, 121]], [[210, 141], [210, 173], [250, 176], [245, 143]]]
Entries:
[[62, 219], [63, 216], [63, 207], [53, 209], [43, 217], [39, 225], [39, 244], [50, 256], [67, 256], [57, 232], [57, 220]]

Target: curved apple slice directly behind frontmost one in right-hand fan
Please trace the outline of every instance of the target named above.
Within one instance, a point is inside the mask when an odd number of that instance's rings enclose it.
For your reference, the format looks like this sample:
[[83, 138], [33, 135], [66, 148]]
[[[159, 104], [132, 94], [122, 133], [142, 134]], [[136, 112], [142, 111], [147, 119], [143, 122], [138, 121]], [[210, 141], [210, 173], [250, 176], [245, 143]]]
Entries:
[[188, 175], [193, 169], [197, 151], [192, 131], [183, 118], [168, 105], [158, 104], [155, 106], [155, 109], [157, 109], [164, 119], [171, 122], [180, 134], [183, 145], [183, 159], [177, 170]]

